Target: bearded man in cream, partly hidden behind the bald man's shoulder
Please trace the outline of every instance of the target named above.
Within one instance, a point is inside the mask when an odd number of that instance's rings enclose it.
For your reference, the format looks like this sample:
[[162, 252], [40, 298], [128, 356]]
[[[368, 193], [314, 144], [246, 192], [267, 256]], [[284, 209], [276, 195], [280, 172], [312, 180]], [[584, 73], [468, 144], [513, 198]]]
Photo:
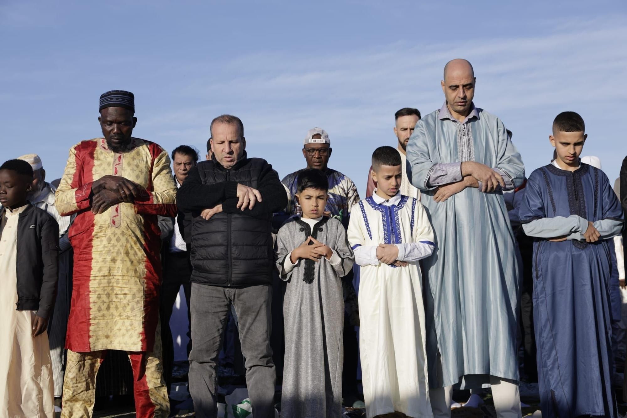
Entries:
[[[396, 119], [394, 126], [394, 135], [398, 139], [398, 153], [401, 154], [401, 166], [403, 168], [403, 181], [401, 182], [401, 195], [409, 196], [420, 200], [420, 190], [411, 184], [407, 178], [407, 144], [409, 137], [414, 133], [414, 128], [420, 120], [420, 110], [413, 107], [403, 107], [394, 114]], [[372, 167], [368, 171], [368, 180], [366, 183], [366, 197], [372, 196], [377, 188], [377, 183], [371, 176]]]

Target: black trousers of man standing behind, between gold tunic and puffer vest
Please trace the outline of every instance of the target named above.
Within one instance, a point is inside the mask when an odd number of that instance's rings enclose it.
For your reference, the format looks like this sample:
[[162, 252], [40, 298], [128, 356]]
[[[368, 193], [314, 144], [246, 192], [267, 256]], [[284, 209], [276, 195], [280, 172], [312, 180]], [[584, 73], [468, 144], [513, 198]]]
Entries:
[[[189, 252], [168, 252], [163, 262], [163, 281], [159, 299], [159, 318], [161, 319], [161, 341], [163, 346], [163, 375], [166, 380], [167, 393], [170, 393], [172, 385], [172, 368], [174, 367], [174, 341], [172, 341], [172, 331], [170, 330], [170, 318], [172, 308], [176, 301], [176, 295], [183, 286], [185, 299], [187, 302], [187, 319], [191, 323], [189, 313], [189, 301], [191, 294], [191, 284], [189, 277], [192, 274], [192, 267], [189, 262]], [[191, 331], [187, 328], [189, 343], [187, 344], [187, 356], [191, 351]]]

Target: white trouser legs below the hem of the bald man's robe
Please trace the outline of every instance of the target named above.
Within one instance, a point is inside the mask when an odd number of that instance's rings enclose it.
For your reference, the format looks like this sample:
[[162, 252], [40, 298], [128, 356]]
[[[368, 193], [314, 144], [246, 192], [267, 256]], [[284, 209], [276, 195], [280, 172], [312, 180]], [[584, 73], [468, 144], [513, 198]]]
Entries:
[[[521, 418], [520, 392], [518, 385], [502, 380], [499, 377], [490, 376], [492, 386], [492, 398], [494, 408], [499, 418]], [[430, 389], [431, 410], [434, 417], [450, 418], [452, 386]]]

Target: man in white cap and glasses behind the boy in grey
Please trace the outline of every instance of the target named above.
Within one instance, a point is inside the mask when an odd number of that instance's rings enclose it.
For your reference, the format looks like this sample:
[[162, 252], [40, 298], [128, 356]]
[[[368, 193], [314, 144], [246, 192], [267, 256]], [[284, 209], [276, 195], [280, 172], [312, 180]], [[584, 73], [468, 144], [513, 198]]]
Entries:
[[[314, 127], [307, 131], [305, 141], [303, 141], [302, 153], [307, 161], [306, 168], [315, 168], [323, 171], [329, 180], [329, 200], [325, 207], [325, 216], [335, 218], [342, 222], [344, 228], [349, 225], [350, 210], [353, 205], [359, 202], [359, 193], [355, 183], [347, 176], [329, 168], [329, 158], [333, 149], [329, 134], [320, 127]], [[285, 215], [301, 215], [300, 206], [295, 200], [297, 193], [298, 174], [303, 169], [288, 174], [283, 178], [283, 186], [288, 191], [288, 205]], [[281, 215], [279, 215], [281, 217]], [[359, 325], [359, 313], [357, 308], [357, 296], [355, 287], [352, 284], [352, 271], [348, 276], [342, 278], [344, 286], [344, 371], [342, 374], [342, 394], [344, 404], [351, 406], [358, 400], [357, 395], [357, 336], [355, 326]]]

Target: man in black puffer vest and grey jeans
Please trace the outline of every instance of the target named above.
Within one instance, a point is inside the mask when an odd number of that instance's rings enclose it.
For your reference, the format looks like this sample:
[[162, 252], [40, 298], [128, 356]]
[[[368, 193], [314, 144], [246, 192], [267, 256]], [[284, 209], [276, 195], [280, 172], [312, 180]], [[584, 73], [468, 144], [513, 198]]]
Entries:
[[192, 214], [189, 393], [197, 417], [217, 416], [216, 363], [233, 304], [253, 415], [274, 417], [271, 220], [287, 205], [287, 193], [270, 164], [246, 157], [238, 117], [211, 122], [211, 147], [211, 161], [192, 168], [177, 194], [179, 210]]

